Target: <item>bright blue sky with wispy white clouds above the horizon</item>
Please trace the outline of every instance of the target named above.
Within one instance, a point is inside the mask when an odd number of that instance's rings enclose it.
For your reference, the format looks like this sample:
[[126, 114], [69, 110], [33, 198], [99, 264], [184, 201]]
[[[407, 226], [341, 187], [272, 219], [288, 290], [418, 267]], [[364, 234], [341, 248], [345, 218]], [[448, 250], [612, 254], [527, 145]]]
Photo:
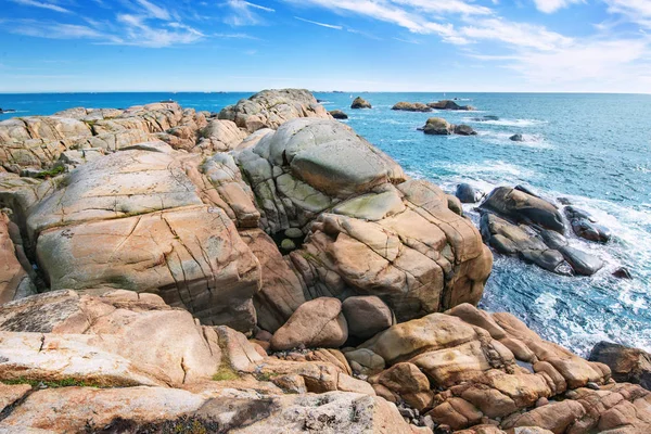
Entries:
[[0, 0], [0, 92], [651, 92], [651, 0]]

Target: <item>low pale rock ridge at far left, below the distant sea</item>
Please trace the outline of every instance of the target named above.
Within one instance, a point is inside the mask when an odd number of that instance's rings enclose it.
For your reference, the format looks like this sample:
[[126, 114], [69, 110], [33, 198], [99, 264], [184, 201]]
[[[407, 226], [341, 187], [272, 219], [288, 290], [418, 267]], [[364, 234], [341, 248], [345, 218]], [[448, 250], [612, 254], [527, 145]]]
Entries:
[[0, 122], [0, 164], [8, 170], [47, 168], [68, 150], [116, 151], [156, 138], [193, 150], [203, 114], [177, 103], [155, 103], [126, 111], [71, 108], [54, 116]]

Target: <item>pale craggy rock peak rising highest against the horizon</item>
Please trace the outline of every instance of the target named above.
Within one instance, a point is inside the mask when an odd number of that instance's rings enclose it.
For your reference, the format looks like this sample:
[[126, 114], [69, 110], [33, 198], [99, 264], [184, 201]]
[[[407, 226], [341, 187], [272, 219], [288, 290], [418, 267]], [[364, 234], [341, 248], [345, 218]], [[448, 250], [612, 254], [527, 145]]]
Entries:
[[331, 118], [315, 97], [302, 89], [264, 90], [219, 113], [220, 119], [232, 120], [248, 132], [261, 128], [278, 129], [297, 117]]

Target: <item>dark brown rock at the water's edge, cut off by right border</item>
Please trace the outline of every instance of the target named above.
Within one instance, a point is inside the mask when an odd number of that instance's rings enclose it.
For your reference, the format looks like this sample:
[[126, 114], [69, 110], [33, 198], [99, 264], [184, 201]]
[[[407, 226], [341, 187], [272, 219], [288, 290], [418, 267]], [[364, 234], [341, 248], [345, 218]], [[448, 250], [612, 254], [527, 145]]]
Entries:
[[639, 384], [651, 391], [651, 355], [610, 342], [600, 342], [590, 353], [590, 361], [608, 365], [613, 379]]

